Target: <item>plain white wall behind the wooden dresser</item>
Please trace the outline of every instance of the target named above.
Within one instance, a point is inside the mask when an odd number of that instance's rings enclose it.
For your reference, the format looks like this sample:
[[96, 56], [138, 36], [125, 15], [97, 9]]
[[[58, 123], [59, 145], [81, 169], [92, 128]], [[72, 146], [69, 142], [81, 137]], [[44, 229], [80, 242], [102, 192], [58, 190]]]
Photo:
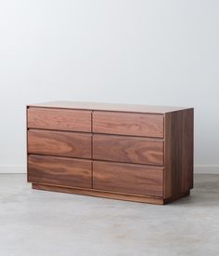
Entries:
[[195, 107], [195, 164], [219, 170], [219, 1], [2, 0], [0, 172], [25, 171], [25, 105]]

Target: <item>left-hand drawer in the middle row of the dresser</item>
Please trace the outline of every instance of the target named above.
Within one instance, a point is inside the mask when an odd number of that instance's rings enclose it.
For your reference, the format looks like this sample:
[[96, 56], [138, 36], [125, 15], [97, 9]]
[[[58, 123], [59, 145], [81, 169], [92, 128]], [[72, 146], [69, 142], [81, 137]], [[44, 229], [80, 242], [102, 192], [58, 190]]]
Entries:
[[29, 129], [28, 153], [91, 158], [91, 134]]

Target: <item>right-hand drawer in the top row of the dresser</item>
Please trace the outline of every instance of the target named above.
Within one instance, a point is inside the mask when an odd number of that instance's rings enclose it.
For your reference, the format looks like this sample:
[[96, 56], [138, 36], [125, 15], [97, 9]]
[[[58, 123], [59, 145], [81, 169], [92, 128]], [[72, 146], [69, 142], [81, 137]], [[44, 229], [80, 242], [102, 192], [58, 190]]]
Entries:
[[163, 115], [95, 111], [93, 131], [163, 138]]

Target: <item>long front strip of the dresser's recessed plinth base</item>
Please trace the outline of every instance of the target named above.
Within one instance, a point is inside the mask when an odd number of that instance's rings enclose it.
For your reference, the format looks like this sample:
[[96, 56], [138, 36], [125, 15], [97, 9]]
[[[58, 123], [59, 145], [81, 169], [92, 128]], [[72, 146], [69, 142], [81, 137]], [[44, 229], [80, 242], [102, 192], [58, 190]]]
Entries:
[[113, 193], [107, 191], [100, 191], [95, 189], [82, 189], [75, 187], [63, 187], [63, 186], [54, 186], [49, 184], [42, 183], [32, 183], [33, 189], [45, 190], [45, 191], [55, 191], [60, 193], [69, 193], [76, 195], [90, 195], [97, 197], [104, 197], [116, 200], [125, 200], [138, 203], [148, 203], [154, 205], [163, 205], [169, 203], [170, 201], [164, 201], [162, 197], [149, 196], [149, 195], [134, 195], [134, 194], [122, 194], [122, 193]]

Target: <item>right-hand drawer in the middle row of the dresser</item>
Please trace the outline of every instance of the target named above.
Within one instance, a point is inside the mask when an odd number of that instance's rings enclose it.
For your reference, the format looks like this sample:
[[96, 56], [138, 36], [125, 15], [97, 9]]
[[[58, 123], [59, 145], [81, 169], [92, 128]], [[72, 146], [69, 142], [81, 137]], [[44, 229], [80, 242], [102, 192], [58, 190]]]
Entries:
[[93, 158], [163, 166], [163, 141], [139, 137], [95, 134]]

